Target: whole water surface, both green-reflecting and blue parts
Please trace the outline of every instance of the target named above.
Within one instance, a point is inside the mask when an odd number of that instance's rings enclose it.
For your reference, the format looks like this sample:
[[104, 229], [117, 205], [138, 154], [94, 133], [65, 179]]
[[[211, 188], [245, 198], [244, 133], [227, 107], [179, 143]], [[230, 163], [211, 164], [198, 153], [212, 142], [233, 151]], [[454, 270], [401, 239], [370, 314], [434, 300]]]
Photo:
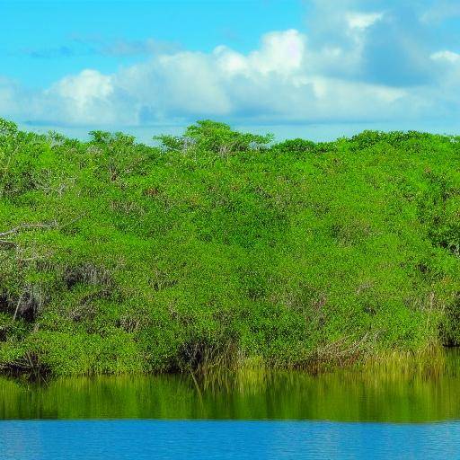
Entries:
[[441, 366], [0, 379], [0, 457], [460, 458], [460, 357]]

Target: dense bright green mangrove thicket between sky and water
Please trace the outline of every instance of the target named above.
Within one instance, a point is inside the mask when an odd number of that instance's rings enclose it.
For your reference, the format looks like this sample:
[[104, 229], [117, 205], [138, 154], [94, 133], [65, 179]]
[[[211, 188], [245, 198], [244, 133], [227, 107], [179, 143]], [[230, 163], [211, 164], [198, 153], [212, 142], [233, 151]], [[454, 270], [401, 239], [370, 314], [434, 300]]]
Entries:
[[347, 363], [460, 343], [460, 137], [0, 121], [0, 368]]

